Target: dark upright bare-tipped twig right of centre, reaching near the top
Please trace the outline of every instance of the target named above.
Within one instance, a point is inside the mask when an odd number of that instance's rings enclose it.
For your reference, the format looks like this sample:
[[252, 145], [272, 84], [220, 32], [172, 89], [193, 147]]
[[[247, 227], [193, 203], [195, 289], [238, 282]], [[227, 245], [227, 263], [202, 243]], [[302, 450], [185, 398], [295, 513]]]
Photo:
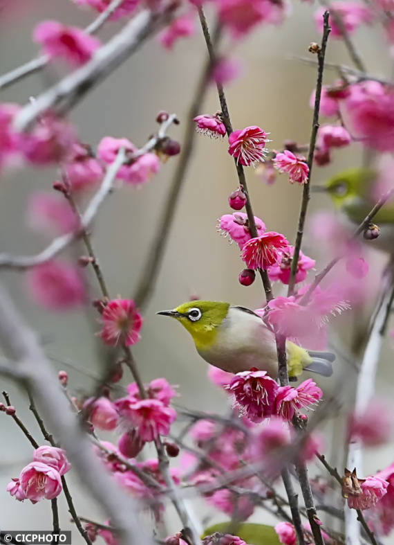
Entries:
[[295, 278], [297, 274], [299, 252], [301, 250], [302, 238], [303, 238], [303, 228], [306, 221], [306, 213], [308, 211], [308, 203], [310, 200], [310, 180], [312, 176], [312, 166], [313, 166], [313, 156], [315, 154], [315, 145], [317, 139], [317, 131], [319, 130], [319, 111], [320, 111], [320, 98], [321, 98], [321, 87], [323, 86], [323, 70], [324, 70], [324, 57], [326, 56], [326, 46], [328, 42], [328, 35], [330, 34], [331, 28], [328, 24], [329, 13], [326, 11], [323, 15], [323, 37], [321, 38], [321, 46], [317, 52], [317, 82], [316, 82], [316, 94], [315, 94], [315, 107], [313, 109], [313, 119], [312, 119], [312, 131], [310, 132], [310, 143], [309, 143], [309, 152], [308, 152], [308, 178], [306, 183], [303, 185], [302, 192], [302, 202], [301, 210], [299, 213], [299, 222], [297, 229], [297, 238], [294, 244], [294, 254], [292, 256], [292, 265], [290, 269], [290, 280], [288, 287], [288, 296], [292, 295], [294, 292]]

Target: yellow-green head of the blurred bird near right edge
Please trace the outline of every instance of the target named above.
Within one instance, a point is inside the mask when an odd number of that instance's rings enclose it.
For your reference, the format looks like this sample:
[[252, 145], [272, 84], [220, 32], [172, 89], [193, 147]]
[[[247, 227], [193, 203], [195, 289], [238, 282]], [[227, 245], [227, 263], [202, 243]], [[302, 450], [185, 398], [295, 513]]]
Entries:
[[348, 168], [326, 181], [324, 188], [337, 208], [343, 208], [355, 199], [367, 198], [368, 187], [375, 172], [367, 168]]

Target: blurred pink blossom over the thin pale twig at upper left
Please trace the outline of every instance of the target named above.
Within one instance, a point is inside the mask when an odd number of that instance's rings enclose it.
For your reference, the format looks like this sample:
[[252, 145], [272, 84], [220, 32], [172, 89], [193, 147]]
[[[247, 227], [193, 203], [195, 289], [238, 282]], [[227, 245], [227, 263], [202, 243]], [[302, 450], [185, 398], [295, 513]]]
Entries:
[[42, 21], [35, 28], [34, 39], [50, 57], [62, 57], [75, 66], [90, 60], [101, 46], [100, 40], [81, 28], [57, 21]]

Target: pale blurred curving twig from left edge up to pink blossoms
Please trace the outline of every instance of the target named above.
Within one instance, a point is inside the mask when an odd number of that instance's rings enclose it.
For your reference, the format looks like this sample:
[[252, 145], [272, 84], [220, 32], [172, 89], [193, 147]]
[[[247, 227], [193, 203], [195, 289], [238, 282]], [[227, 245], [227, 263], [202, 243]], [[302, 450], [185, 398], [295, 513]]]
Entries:
[[66, 233], [66, 235], [55, 238], [46, 249], [37, 253], [35, 256], [12, 256], [8, 253], [0, 253], [0, 268], [28, 269], [30, 267], [35, 267], [36, 265], [41, 265], [41, 263], [53, 259], [58, 253], [68, 247], [69, 244], [79, 237], [81, 231], [83, 232], [86, 230], [91, 222], [93, 222], [93, 219], [95, 218], [95, 215], [97, 215], [105, 198], [111, 192], [113, 182], [118, 174], [118, 170], [124, 163], [124, 159], [124, 148], [121, 148], [115, 161], [113, 161], [111, 166], [107, 169], [100, 189], [95, 193], [91, 202], [89, 202], [86, 207], [86, 211], [81, 218], [81, 223], [77, 231]]

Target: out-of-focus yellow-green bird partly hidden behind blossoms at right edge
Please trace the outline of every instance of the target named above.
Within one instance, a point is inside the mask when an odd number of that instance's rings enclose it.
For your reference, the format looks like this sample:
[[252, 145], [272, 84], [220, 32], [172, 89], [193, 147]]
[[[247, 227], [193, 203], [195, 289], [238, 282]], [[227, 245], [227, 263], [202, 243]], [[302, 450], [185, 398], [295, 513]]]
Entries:
[[[343, 211], [351, 222], [361, 224], [376, 204], [373, 198], [377, 172], [369, 168], [350, 168], [339, 172], [317, 190], [328, 192], [335, 206]], [[373, 217], [373, 223], [380, 228], [380, 234], [373, 245], [394, 253], [394, 202], [388, 202]]]

